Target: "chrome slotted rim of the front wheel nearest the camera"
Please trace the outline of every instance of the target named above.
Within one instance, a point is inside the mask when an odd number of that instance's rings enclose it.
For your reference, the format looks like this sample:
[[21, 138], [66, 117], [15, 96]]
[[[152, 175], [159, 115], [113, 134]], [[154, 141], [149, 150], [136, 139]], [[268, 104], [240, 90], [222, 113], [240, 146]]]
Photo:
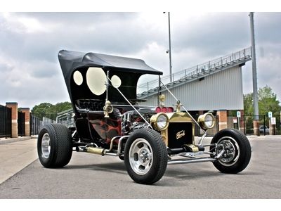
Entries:
[[149, 172], [153, 161], [150, 143], [145, 139], [136, 139], [129, 150], [129, 163], [133, 172], [144, 175]]

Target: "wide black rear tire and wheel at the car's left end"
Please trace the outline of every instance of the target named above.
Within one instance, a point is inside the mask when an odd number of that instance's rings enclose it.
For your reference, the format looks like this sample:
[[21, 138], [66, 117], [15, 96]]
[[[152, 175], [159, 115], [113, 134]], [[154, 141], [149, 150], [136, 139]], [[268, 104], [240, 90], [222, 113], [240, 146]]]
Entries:
[[44, 125], [39, 132], [37, 152], [44, 167], [64, 167], [72, 157], [70, 130], [63, 124]]

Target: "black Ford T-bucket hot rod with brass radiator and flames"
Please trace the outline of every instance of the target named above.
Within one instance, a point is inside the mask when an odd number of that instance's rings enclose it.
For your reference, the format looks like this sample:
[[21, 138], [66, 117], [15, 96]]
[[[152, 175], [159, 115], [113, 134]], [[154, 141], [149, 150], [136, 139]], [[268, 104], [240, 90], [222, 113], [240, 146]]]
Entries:
[[[203, 145], [214, 127], [211, 113], [198, 120], [160, 84], [155, 107], [138, 106], [136, 87], [141, 75], [162, 75], [143, 60], [100, 53], [60, 51], [60, 66], [74, 110], [75, 127], [46, 124], [38, 137], [44, 167], [63, 167], [72, 151], [117, 156], [130, 177], [140, 184], [162, 178], [167, 164], [213, 162], [221, 172], [235, 174], [247, 167], [251, 146], [236, 129], [223, 129]], [[175, 98], [176, 108], [163, 105], [161, 90]], [[204, 131], [195, 143], [195, 124]]]

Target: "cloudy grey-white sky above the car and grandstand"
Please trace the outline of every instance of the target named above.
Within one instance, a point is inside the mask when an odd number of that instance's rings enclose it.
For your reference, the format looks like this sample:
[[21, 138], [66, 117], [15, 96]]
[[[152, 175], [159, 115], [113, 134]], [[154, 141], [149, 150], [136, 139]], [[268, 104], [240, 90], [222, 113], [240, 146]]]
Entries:
[[[171, 12], [173, 72], [251, 45], [249, 13]], [[254, 13], [258, 87], [281, 101], [281, 13]], [[169, 74], [168, 16], [148, 13], [0, 13], [0, 104], [69, 101], [58, 51], [142, 58]], [[251, 61], [242, 68], [252, 91]]]

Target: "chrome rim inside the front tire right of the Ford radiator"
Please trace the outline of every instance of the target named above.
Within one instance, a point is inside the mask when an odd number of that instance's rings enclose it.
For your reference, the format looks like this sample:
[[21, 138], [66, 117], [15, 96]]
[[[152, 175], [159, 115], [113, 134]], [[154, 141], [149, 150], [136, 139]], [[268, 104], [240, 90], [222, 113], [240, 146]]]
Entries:
[[223, 155], [218, 158], [218, 162], [220, 162], [224, 166], [234, 165], [239, 156], [240, 156], [240, 148], [232, 137], [223, 137], [218, 140], [218, 154], [224, 149]]

